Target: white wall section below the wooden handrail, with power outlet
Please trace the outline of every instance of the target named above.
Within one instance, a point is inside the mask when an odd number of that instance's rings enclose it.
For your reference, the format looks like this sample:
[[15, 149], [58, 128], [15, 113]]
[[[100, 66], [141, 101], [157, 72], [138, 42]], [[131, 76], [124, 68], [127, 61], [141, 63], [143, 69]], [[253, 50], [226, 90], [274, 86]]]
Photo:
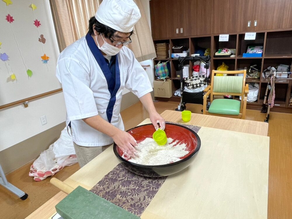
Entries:
[[[47, 124], [41, 125], [45, 115]], [[0, 111], [0, 151], [31, 138], [66, 120], [63, 93], [40, 98], [28, 103], [28, 107], [17, 105]], [[21, 152], [20, 152], [21, 153]]]

